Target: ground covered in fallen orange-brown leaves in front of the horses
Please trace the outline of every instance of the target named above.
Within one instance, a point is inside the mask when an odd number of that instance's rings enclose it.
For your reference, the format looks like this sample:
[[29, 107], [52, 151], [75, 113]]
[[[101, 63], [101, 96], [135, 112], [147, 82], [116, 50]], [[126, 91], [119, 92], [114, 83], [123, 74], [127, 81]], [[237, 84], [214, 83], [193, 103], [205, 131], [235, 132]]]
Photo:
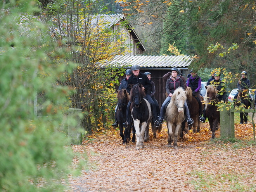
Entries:
[[[201, 124], [202, 125], [202, 124]], [[210, 141], [208, 123], [188, 133], [178, 149], [167, 146], [167, 129], [150, 137], [145, 148], [123, 145], [117, 130], [92, 135], [74, 152], [88, 153], [88, 170], [69, 178], [74, 192], [256, 191], [256, 146], [253, 127], [235, 124], [244, 142]]]

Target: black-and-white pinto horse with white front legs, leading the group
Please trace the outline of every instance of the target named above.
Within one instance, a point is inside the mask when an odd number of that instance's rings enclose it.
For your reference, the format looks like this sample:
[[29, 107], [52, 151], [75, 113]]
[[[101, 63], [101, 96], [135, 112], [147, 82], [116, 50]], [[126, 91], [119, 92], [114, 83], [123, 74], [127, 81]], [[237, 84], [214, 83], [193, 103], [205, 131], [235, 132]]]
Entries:
[[131, 116], [136, 130], [136, 149], [144, 148], [144, 141], [149, 139], [149, 124], [152, 119], [152, 112], [149, 102], [144, 99], [145, 91], [142, 85], [136, 84], [131, 88]]

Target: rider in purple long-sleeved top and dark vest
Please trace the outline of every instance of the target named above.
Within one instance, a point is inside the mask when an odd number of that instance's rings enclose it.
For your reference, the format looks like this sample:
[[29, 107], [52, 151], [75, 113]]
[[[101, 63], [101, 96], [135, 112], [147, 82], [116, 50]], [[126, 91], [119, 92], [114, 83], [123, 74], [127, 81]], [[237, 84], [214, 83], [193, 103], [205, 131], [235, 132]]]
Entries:
[[187, 86], [189, 86], [192, 89], [192, 94], [194, 97], [197, 97], [199, 99], [199, 120], [202, 117], [202, 98], [200, 95], [200, 89], [201, 89], [201, 78], [193, 71], [193, 69], [190, 70], [191, 76], [188, 79]]

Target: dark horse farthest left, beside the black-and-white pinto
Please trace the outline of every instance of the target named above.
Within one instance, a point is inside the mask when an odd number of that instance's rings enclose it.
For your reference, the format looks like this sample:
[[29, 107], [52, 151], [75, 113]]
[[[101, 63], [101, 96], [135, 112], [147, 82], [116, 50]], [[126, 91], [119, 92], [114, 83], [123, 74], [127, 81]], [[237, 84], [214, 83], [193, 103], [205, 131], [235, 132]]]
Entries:
[[[126, 121], [126, 108], [127, 108], [128, 102], [130, 100], [130, 95], [125, 89], [119, 90], [116, 95], [118, 98], [118, 105], [117, 105], [118, 108], [116, 111], [116, 116], [117, 116], [117, 120], [119, 123], [119, 131], [120, 131], [119, 135], [121, 136], [121, 138], [123, 140], [123, 144], [126, 144], [131, 139], [131, 130], [130, 130], [130, 134], [124, 135], [123, 123]], [[135, 129], [134, 128], [133, 128], [132, 142], [135, 142]]]

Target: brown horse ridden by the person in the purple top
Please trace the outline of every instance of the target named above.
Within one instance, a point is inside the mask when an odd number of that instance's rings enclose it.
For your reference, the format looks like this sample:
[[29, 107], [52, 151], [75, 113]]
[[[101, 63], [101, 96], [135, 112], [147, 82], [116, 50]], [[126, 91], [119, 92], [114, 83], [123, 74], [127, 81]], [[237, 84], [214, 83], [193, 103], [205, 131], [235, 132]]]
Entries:
[[[188, 103], [188, 107], [189, 107], [189, 112], [190, 112], [190, 118], [193, 119], [194, 123], [192, 124], [193, 126], [193, 132], [199, 132], [200, 131], [200, 121], [199, 121], [199, 100], [197, 100], [197, 98], [193, 97], [192, 95], [192, 89], [190, 87], [186, 88], [186, 92], [187, 92], [187, 103]], [[189, 128], [190, 125], [188, 125]], [[195, 129], [197, 127], [197, 129]]]

